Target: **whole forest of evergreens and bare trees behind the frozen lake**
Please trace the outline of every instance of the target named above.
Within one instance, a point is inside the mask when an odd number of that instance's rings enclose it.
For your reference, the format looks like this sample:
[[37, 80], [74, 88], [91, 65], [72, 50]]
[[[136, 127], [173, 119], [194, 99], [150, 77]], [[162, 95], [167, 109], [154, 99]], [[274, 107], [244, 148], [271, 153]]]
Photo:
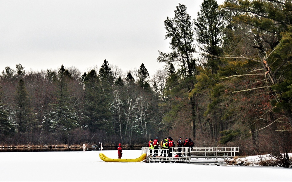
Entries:
[[204, 0], [164, 21], [165, 69], [124, 72], [110, 60], [81, 73], [0, 75], [1, 143], [146, 144], [191, 137], [195, 146], [239, 146], [242, 154], [291, 152], [292, 3]]

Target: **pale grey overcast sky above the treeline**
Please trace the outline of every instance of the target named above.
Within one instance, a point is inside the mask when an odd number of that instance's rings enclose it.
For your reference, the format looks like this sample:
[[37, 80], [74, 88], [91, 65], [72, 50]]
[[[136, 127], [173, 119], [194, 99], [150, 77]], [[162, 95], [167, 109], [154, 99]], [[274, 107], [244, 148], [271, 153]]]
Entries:
[[164, 20], [178, 2], [197, 17], [202, 0], [0, 0], [0, 71], [20, 63], [86, 72], [106, 59], [124, 72], [144, 63], [153, 74], [164, 66], [156, 60], [169, 51]]

